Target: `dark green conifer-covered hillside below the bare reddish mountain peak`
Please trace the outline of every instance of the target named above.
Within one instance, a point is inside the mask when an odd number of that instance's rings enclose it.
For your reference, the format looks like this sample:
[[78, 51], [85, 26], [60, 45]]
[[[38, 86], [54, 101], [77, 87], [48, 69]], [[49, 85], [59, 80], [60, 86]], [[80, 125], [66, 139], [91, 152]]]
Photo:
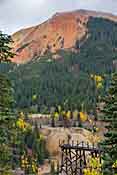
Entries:
[[[48, 112], [52, 106], [95, 111], [106, 93], [117, 58], [117, 23], [90, 18], [88, 39], [77, 41], [80, 53], [58, 51], [24, 65], [0, 64], [0, 71], [12, 80], [17, 108]], [[94, 80], [100, 78], [99, 82]]]

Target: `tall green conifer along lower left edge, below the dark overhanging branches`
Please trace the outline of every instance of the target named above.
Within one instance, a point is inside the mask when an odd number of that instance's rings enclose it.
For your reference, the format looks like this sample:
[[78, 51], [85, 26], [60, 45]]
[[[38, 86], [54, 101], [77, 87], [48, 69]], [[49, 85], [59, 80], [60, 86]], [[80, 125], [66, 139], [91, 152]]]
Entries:
[[13, 96], [10, 81], [0, 76], [0, 169], [10, 169], [12, 144], [15, 129], [13, 115]]

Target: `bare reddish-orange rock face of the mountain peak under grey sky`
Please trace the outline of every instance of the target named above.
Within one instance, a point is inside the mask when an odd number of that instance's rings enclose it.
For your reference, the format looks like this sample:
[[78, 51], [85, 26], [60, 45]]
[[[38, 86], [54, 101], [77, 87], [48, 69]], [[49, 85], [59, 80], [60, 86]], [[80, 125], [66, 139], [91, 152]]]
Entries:
[[90, 16], [117, 21], [117, 16], [93, 11], [56, 13], [40, 25], [13, 34], [13, 51], [16, 56], [12, 61], [22, 64], [47, 51], [56, 53], [59, 49], [73, 49], [76, 40], [86, 34], [86, 24]]

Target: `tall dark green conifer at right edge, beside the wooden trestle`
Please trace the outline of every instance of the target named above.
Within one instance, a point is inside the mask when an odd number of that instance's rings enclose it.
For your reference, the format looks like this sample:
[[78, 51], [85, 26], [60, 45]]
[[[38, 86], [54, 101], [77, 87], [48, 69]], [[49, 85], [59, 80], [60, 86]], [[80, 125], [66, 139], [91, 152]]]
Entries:
[[101, 143], [103, 153], [103, 173], [111, 175], [117, 173], [113, 164], [117, 160], [117, 73], [113, 75], [109, 94], [105, 98], [104, 121], [106, 122], [105, 140]]

